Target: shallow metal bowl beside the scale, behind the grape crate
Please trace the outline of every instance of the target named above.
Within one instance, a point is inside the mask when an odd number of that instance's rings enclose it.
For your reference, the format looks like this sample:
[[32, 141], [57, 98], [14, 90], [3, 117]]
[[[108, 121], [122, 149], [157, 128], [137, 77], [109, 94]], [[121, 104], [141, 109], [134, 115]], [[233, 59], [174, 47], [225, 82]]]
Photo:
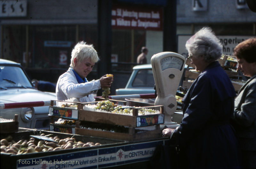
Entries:
[[135, 106], [135, 107], [148, 107], [155, 106], [154, 100], [149, 99], [140, 99], [140, 98], [126, 98], [127, 106]]

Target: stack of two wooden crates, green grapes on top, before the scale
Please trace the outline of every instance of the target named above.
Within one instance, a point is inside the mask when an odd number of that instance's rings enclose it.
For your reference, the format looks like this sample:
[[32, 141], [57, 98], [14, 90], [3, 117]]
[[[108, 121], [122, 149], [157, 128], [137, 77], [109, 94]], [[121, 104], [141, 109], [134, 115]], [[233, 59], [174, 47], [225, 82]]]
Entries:
[[163, 123], [163, 106], [118, 106], [106, 100], [79, 110], [75, 131], [79, 135], [135, 141], [161, 137], [159, 125]]

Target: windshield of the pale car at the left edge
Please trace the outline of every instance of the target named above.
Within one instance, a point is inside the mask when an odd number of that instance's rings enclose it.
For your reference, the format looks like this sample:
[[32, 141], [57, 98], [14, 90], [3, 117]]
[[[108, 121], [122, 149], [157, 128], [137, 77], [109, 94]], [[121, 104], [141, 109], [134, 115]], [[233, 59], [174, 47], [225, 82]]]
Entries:
[[1, 89], [16, 87], [32, 88], [32, 85], [20, 67], [0, 66], [0, 87]]

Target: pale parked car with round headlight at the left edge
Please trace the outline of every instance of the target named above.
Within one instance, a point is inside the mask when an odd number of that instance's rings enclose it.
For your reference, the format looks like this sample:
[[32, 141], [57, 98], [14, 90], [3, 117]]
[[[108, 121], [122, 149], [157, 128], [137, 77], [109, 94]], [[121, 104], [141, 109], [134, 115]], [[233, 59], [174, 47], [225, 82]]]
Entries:
[[[56, 94], [35, 89], [20, 63], [0, 59], [0, 103], [56, 100]], [[18, 114], [19, 127], [49, 129], [49, 106], [1, 109], [3, 119]]]

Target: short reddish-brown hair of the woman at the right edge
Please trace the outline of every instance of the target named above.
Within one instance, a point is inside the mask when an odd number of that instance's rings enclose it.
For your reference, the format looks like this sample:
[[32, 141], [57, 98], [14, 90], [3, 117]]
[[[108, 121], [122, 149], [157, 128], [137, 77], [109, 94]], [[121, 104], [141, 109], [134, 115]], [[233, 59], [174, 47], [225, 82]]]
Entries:
[[234, 49], [233, 55], [239, 59], [244, 58], [248, 63], [256, 62], [256, 38], [239, 43]]

